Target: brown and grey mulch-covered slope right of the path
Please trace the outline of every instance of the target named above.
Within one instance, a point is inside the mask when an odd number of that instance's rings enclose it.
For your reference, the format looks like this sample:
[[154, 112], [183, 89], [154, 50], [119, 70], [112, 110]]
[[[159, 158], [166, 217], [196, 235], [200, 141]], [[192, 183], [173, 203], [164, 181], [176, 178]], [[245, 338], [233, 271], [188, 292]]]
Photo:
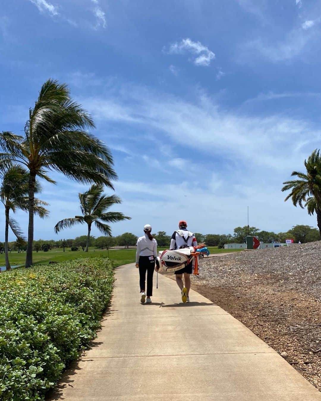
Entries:
[[192, 288], [321, 390], [321, 241], [204, 258]]

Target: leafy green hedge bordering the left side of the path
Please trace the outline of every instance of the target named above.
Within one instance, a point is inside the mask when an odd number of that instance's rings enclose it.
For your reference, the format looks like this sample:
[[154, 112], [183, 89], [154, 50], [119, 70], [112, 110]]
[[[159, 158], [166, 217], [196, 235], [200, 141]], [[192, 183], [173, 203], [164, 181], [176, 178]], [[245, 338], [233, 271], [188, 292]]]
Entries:
[[0, 399], [43, 400], [100, 328], [114, 273], [78, 259], [0, 274]]

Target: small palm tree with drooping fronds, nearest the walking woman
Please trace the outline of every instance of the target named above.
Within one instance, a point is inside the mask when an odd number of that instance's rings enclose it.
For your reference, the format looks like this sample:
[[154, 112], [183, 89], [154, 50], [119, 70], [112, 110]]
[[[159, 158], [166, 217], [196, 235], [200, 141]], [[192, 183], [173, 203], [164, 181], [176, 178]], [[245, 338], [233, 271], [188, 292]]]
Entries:
[[[106, 212], [115, 203], [121, 203], [121, 200], [116, 195], [106, 196], [103, 194], [104, 188], [100, 184], [92, 185], [88, 191], [83, 194], [78, 194], [80, 202], [80, 210], [82, 216], [75, 216], [74, 218], [64, 219], [58, 221], [54, 227], [54, 231], [57, 234], [60, 230], [68, 227], [72, 227], [75, 224], [88, 225], [88, 235], [86, 243], [86, 251], [88, 252], [90, 231], [92, 223], [99, 231], [104, 233], [104, 235], [111, 235], [110, 226], [105, 223], [115, 223], [116, 221], [130, 220], [130, 217], [124, 216], [119, 212]], [[101, 220], [101, 221], [100, 221]], [[102, 223], [102, 221], [104, 223]]]

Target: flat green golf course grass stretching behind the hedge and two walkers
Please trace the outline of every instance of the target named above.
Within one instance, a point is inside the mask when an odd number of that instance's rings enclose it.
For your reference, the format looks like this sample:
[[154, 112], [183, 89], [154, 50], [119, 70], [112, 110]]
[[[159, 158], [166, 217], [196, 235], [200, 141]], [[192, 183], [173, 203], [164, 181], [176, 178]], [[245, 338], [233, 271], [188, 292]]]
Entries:
[[[159, 247], [158, 251], [162, 251], [167, 249], [166, 247]], [[218, 249], [217, 247], [209, 247], [209, 251], [211, 253], [228, 253], [228, 252], [238, 252], [243, 249]], [[110, 259], [114, 262], [115, 266], [125, 265], [126, 263], [132, 263], [135, 261], [136, 249], [96, 249], [95, 247], [90, 247], [88, 252], [80, 251], [70, 251], [69, 248], [65, 249], [65, 252], [62, 249], [52, 249], [48, 252], [39, 251], [33, 252], [33, 262], [34, 264], [46, 263], [49, 261], [55, 262], [64, 262], [72, 259], [79, 258], [87, 258], [87, 257], [110, 257]], [[18, 253], [16, 251], [12, 251], [9, 254], [10, 264], [12, 266], [16, 265], [24, 265], [26, 260], [26, 252]], [[4, 253], [0, 255], [0, 266], [4, 266]]]

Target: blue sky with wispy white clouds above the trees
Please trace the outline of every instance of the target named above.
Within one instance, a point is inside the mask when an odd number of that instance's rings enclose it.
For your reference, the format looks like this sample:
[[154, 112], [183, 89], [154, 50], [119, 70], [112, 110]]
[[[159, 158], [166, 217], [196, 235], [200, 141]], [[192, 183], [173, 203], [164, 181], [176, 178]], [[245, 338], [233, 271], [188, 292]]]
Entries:
[[[23, 130], [46, 79], [68, 83], [114, 156], [114, 210], [132, 217], [114, 235], [171, 233], [181, 219], [232, 233], [247, 206], [260, 229], [316, 226], [281, 187], [320, 147], [320, 31], [319, 0], [2, 2], [0, 130]], [[86, 186], [52, 176], [35, 239], [86, 233], [54, 235]]]

